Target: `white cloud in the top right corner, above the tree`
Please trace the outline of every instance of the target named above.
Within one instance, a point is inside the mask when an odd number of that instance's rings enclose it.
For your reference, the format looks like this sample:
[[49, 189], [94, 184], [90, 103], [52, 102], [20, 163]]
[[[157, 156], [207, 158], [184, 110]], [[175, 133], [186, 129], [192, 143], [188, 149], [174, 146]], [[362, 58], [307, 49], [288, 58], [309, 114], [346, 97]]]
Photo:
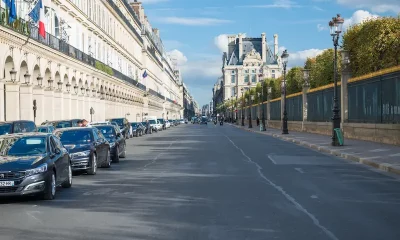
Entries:
[[339, 4], [353, 8], [368, 8], [373, 12], [400, 12], [399, 0], [337, 0]]

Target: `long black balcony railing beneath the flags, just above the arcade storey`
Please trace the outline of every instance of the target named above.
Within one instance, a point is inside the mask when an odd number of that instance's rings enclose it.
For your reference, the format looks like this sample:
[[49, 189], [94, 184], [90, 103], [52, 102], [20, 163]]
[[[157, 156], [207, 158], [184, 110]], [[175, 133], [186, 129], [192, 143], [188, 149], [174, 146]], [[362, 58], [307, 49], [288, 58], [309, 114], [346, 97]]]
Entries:
[[12, 25], [8, 24], [8, 22], [7, 22], [8, 16], [7, 16], [5, 9], [1, 8], [0, 12], [1, 12], [1, 16], [0, 16], [0, 25], [1, 26], [6, 27], [10, 30], [13, 30], [14, 32], [23, 34], [30, 39], [33, 39], [39, 43], [42, 43], [54, 50], [64, 53], [67, 56], [75, 58], [82, 63], [90, 65], [100, 71], [107, 73], [108, 75], [116, 77], [120, 80], [123, 80], [127, 83], [130, 83], [130, 84], [136, 86], [137, 88], [140, 88], [140, 89], [146, 91], [145, 85], [124, 75], [123, 73], [108, 66], [107, 64], [87, 55], [86, 53], [80, 51], [79, 49], [69, 45], [65, 41], [60, 40], [47, 32], [46, 32], [46, 38], [43, 38], [41, 35], [39, 35], [39, 29], [36, 26], [32, 25], [29, 22], [26, 22], [25, 20], [23, 20], [21, 18], [17, 19]]

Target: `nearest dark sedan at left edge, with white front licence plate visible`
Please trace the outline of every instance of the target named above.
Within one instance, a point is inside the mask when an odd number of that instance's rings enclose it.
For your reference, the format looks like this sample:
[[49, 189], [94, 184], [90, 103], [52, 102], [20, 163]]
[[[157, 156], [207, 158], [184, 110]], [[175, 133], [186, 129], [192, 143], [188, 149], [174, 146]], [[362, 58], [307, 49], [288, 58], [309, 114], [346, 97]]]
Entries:
[[59, 185], [72, 186], [71, 160], [59, 139], [48, 133], [0, 137], [0, 196], [51, 200]]

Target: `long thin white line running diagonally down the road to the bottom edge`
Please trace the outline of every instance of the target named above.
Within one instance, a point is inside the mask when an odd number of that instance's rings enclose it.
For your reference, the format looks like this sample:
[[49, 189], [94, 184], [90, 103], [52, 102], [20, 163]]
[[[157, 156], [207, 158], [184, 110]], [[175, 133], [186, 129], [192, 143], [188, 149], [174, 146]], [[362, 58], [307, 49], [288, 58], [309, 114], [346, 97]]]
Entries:
[[261, 178], [263, 178], [266, 183], [271, 185], [273, 188], [275, 188], [278, 192], [280, 192], [289, 202], [291, 202], [299, 211], [303, 212], [306, 214], [314, 223], [315, 226], [320, 228], [330, 239], [332, 240], [339, 240], [331, 231], [329, 231], [326, 227], [322, 226], [319, 220], [310, 212], [307, 211], [299, 202], [296, 201], [290, 194], [288, 194], [281, 186], [275, 184], [271, 180], [269, 180], [262, 172], [261, 169], [262, 167], [258, 165], [258, 163], [254, 162], [251, 160], [249, 156], [247, 156], [244, 151], [239, 148], [228, 136], [225, 135], [225, 137], [232, 143], [232, 145], [238, 149], [242, 155], [247, 159], [247, 162], [254, 164], [257, 167], [258, 174], [260, 175]]

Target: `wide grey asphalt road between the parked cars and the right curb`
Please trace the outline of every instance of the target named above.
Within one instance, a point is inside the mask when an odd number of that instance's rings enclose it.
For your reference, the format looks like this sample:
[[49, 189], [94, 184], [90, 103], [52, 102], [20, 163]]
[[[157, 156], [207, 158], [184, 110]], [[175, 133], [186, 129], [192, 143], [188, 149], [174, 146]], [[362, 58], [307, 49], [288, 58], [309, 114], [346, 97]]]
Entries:
[[228, 125], [128, 145], [53, 201], [0, 200], [0, 240], [400, 239], [396, 176]]

